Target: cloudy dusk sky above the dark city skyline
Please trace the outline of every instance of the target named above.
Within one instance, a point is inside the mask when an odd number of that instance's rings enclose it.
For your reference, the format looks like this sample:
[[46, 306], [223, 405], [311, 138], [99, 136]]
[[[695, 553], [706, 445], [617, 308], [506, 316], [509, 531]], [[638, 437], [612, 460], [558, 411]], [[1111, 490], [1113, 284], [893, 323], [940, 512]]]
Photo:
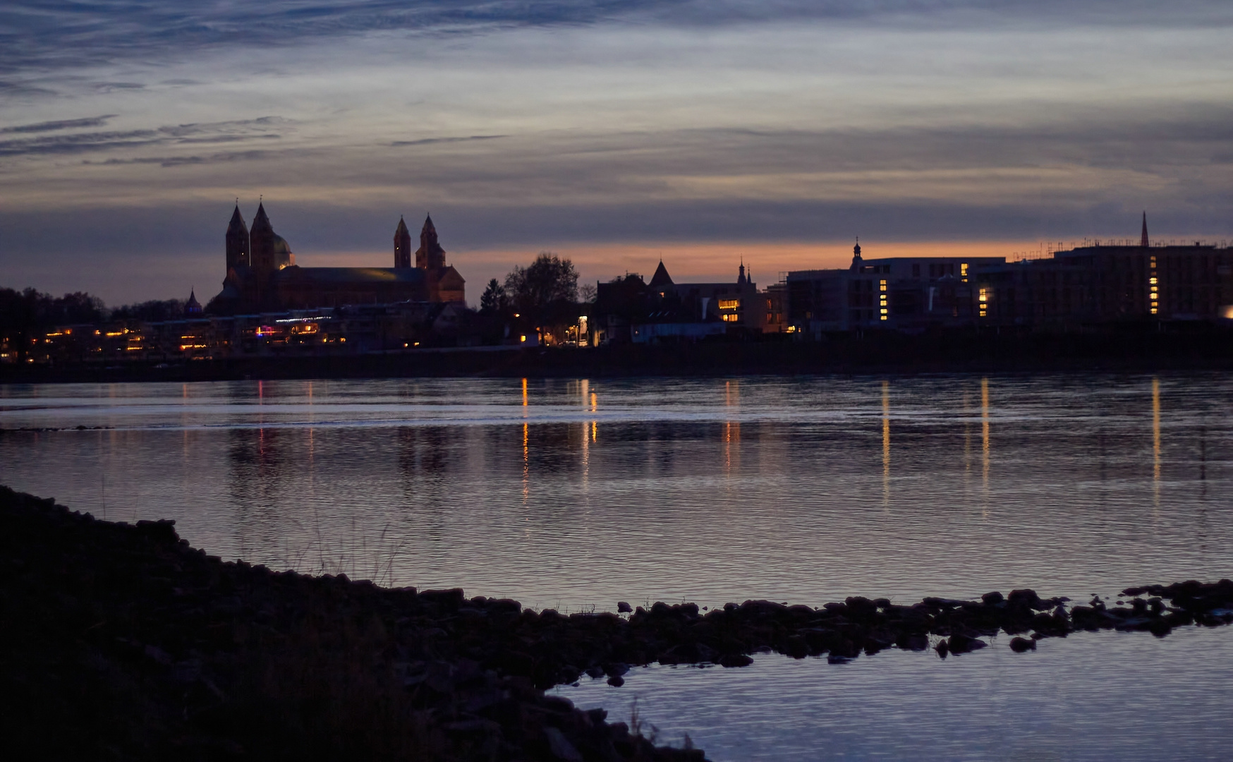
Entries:
[[221, 289], [237, 199], [301, 265], [432, 213], [477, 302], [1046, 242], [1233, 238], [1227, 0], [7, 0], [0, 286]]

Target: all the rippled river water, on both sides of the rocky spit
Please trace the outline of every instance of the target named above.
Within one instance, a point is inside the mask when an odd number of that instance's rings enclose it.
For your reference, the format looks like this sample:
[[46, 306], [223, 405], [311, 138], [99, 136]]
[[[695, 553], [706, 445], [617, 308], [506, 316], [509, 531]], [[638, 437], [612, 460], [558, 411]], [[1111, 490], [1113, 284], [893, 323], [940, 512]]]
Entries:
[[[0, 386], [0, 482], [223, 557], [563, 610], [1080, 598], [1233, 576], [1231, 401], [1216, 374]], [[1141, 727], [1228, 705], [1231, 642], [766, 656], [566, 693], [642, 692], [716, 760], [1145, 758]], [[1165, 756], [1206, 758], [1217, 725]]]

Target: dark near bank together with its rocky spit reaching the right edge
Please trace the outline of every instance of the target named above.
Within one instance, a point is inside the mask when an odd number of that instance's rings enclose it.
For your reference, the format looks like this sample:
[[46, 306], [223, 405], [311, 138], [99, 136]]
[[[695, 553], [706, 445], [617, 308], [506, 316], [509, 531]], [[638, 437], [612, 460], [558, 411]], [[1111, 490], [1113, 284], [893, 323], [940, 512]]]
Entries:
[[[545, 694], [652, 662], [843, 662], [889, 647], [1015, 651], [1083, 630], [1233, 623], [1233, 581], [561, 615], [223, 562], [171, 522], [102, 522], [0, 487], [0, 723], [12, 758], [700, 761]], [[55, 729], [51, 732], [48, 729]]]

